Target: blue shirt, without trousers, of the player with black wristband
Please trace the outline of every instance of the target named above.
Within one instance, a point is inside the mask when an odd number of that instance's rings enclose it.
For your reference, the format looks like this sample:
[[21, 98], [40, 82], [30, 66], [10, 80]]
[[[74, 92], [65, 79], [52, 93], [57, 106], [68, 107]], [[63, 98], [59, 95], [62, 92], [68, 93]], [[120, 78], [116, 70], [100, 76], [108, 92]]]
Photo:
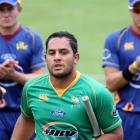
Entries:
[[[103, 67], [123, 70], [136, 59], [140, 59], [140, 36], [131, 27], [113, 32], [106, 38]], [[140, 70], [118, 93], [118, 109], [140, 112]]]

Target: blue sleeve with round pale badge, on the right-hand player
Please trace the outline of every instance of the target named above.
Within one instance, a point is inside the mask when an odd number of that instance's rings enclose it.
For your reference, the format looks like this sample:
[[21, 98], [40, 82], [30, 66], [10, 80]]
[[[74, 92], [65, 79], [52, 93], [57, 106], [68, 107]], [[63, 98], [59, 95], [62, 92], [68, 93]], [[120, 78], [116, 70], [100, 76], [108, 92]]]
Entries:
[[115, 67], [119, 69], [118, 36], [119, 32], [114, 32], [107, 36], [103, 49], [102, 67]]

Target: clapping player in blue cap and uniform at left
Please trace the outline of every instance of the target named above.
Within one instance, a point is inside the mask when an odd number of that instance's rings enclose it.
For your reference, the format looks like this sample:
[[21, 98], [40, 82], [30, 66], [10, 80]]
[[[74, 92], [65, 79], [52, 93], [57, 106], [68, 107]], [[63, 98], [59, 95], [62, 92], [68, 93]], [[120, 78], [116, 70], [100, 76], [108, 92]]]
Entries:
[[43, 43], [38, 33], [20, 25], [17, 0], [0, 0], [0, 140], [10, 140], [20, 115], [24, 83], [44, 72]]

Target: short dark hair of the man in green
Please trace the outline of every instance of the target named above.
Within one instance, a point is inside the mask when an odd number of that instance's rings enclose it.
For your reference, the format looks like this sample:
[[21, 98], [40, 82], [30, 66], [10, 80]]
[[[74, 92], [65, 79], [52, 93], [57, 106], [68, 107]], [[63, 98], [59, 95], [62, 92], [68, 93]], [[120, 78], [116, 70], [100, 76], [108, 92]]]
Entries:
[[78, 52], [78, 44], [77, 44], [77, 39], [74, 37], [73, 34], [70, 34], [68, 32], [54, 32], [52, 33], [46, 40], [46, 51], [48, 49], [48, 43], [49, 41], [52, 39], [52, 38], [56, 38], [56, 37], [65, 37], [65, 38], [68, 38], [69, 39], [69, 43], [70, 43], [70, 46], [73, 50], [73, 53], [77, 53]]

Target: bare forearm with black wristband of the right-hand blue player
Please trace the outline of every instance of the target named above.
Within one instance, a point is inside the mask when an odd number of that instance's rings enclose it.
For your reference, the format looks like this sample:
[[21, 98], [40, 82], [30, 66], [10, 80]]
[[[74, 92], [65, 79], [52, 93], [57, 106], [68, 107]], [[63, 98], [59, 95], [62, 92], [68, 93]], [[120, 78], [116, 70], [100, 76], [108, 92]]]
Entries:
[[117, 68], [105, 67], [106, 85], [111, 91], [116, 91], [119, 88], [128, 84], [132, 80], [137, 70], [140, 68], [140, 61], [136, 60], [127, 68], [120, 71]]

